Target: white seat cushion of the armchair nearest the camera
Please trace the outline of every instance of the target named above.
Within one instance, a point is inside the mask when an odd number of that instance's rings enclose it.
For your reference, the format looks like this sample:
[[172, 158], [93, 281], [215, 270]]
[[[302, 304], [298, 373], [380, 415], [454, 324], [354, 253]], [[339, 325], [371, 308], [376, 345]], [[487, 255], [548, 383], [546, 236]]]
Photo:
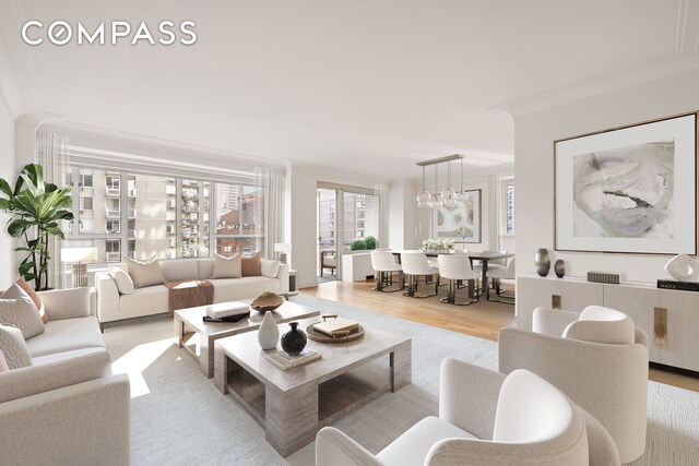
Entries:
[[422, 466], [435, 443], [443, 439], [475, 439], [467, 431], [435, 416], [411, 427], [377, 456], [382, 464]]

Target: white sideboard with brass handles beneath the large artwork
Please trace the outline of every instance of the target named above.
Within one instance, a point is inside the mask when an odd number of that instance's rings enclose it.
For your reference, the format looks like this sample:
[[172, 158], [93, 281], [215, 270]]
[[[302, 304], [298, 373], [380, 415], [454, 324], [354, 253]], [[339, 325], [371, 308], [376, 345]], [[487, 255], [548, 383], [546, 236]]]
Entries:
[[655, 284], [587, 282], [577, 277], [517, 278], [517, 324], [532, 330], [534, 308], [581, 312], [590, 304], [617, 309], [649, 337], [650, 360], [699, 371], [699, 292], [661, 289]]

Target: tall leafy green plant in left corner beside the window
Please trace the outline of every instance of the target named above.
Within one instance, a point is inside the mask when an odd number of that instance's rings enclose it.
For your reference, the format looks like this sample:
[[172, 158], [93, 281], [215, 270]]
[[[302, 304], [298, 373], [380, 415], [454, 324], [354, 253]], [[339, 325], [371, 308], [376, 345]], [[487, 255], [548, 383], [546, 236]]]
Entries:
[[27, 253], [20, 264], [20, 275], [25, 282], [34, 280], [37, 291], [48, 288], [48, 240], [50, 236], [64, 238], [60, 220], [73, 219], [71, 203], [70, 188], [46, 182], [40, 165], [26, 165], [14, 189], [0, 178], [0, 210], [11, 215], [8, 232], [25, 242], [15, 249]]

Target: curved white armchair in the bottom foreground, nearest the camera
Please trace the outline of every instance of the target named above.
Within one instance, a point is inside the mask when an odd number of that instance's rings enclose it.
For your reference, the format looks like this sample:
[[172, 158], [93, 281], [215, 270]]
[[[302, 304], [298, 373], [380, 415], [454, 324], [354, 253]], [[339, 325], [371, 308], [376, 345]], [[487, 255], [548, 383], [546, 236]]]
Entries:
[[316, 464], [588, 465], [585, 420], [560, 391], [529, 371], [506, 378], [445, 359], [438, 418], [423, 419], [376, 455], [340, 430], [323, 428]]

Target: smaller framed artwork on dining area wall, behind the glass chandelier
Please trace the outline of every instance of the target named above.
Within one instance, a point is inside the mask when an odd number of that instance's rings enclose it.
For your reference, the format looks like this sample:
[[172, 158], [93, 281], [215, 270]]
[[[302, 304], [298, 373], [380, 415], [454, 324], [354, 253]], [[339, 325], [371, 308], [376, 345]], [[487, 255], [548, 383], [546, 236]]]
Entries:
[[437, 239], [454, 239], [461, 242], [482, 242], [481, 240], [481, 190], [463, 191], [464, 201], [453, 208], [435, 210], [434, 225]]

